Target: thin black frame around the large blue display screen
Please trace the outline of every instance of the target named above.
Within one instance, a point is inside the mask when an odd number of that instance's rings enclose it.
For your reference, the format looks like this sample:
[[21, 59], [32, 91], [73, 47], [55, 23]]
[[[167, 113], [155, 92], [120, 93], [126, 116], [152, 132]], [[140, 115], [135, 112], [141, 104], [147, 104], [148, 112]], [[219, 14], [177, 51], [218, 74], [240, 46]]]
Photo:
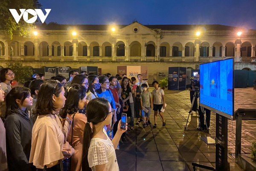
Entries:
[[[209, 109], [209, 110], [211, 110], [211, 111], [213, 111], [215, 113], [218, 113], [219, 115], [224, 116], [224, 117], [226, 117], [228, 119], [235, 120], [236, 119], [236, 116], [234, 116], [234, 114], [235, 114], [235, 111], [234, 111], [234, 93], [235, 93], [234, 92], [234, 66], [235, 66], [235, 63], [234, 63], [234, 58], [228, 58], [228, 59], [224, 59], [224, 60], [220, 60], [220, 61], [225, 61], [225, 60], [232, 60], [232, 63], [233, 63], [233, 66], [232, 66], [233, 67], [233, 73], [232, 73], [233, 74], [232, 75], [232, 78], [233, 78], [233, 81], [232, 81], [232, 84], [233, 84], [233, 86], [232, 86], [232, 105], [233, 105], [233, 107], [232, 107], [233, 108], [232, 109], [232, 115], [224, 113], [221, 110], [209, 107], [209, 106], [201, 103], [200, 100], [199, 100], [199, 105], [202, 106], [202, 107], [205, 107], [205, 108], [207, 108], [207, 109]], [[220, 62], [220, 61], [214, 61], [214, 62]], [[200, 77], [201, 77], [201, 66], [209, 64], [209, 63], [214, 63], [214, 62], [208, 62], [208, 63], [205, 63], [205, 64], [200, 64], [200, 71], [199, 71]], [[200, 78], [200, 81], [201, 81], [201, 78]], [[200, 85], [201, 85], [201, 83], [200, 83]]]

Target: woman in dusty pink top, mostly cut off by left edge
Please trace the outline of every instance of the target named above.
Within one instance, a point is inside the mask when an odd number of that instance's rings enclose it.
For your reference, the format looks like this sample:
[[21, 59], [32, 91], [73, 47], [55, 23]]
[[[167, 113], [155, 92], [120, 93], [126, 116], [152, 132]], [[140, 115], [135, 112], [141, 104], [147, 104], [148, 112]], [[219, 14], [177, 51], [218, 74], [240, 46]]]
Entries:
[[[0, 84], [0, 105], [4, 101], [4, 91]], [[0, 119], [0, 171], [7, 171], [7, 158], [6, 158], [6, 133], [2, 119]]]

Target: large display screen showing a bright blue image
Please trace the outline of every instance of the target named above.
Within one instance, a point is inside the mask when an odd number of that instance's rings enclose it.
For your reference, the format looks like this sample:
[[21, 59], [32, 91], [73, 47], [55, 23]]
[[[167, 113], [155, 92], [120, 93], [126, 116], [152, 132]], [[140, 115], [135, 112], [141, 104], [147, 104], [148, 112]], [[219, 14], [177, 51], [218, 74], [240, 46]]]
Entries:
[[229, 119], [234, 113], [233, 58], [200, 65], [200, 105]]

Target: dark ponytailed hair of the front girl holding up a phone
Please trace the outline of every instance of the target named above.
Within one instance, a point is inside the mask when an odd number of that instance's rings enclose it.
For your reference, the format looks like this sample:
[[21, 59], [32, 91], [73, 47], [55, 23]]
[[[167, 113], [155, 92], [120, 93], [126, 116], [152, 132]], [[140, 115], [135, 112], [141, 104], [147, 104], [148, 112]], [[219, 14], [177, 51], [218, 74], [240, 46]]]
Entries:
[[95, 98], [89, 101], [86, 108], [87, 122], [92, 122], [93, 128], [89, 123], [84, 127], [83, 153], [82, 153], [82, 171], [91, 171], [88, 163], [88, 150], [90, 141], [93, 137], [95, 125], [103, 122], [108, 116], [109, 103], [107, 99]]

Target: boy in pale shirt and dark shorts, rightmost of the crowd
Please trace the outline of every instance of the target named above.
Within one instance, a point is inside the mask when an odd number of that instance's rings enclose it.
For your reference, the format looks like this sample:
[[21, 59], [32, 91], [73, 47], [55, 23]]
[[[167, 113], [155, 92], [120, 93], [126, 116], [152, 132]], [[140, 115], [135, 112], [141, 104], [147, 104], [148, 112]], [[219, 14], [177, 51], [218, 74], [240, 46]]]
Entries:
[[153, 81], [152, 83], [153, 87], [155, 88], [152, 91], [152, 95], [153, 95], [153, 110], [154, 110], [154, 126], [153, 128], [157, 127], [157, 110], [159, 111], [159, 115], [162, 118], [163, 121], [163, 127], [166, 125], [166, 120], [164, 120], [163, 118], [163, 112], [161, 112], [161, 108], [163, 107], [163, 109], [165, 109], [165, 99], [164, 99], [164, 92], [163, 89], [158, 87], [158, 82], [157, 81]]

